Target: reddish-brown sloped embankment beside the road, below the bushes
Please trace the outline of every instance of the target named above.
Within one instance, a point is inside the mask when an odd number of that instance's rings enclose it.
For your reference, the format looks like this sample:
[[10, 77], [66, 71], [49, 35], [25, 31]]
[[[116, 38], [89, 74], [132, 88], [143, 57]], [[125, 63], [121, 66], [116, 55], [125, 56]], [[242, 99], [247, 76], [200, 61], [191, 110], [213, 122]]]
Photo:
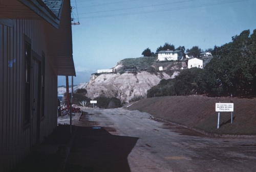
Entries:
[[231, 112], [221, 112], [220, 128], [217, 129], [215, 103], [230, 101], [230, 97], [164, 96], [140, 100], [128, 109], [147, 112], [156, 118], [212, 135], [256, 135], [256, 98], [233, 98], [233, 123]]

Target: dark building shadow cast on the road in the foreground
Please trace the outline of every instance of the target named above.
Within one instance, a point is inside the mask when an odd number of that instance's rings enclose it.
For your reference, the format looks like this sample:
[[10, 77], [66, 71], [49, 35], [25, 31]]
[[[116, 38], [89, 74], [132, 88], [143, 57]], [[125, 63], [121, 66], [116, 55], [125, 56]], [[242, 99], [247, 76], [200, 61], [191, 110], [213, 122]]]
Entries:
[[131, 171], [127, 157], [138, 138], [112, 135], [101, 127], [78, 127], [65, 172]]

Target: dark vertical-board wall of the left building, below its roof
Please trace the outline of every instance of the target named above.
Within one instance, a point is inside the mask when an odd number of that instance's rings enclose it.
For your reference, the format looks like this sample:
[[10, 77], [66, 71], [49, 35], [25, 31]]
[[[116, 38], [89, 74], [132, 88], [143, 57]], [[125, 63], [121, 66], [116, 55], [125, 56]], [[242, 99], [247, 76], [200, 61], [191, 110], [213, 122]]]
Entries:
[[[32, 146], [32, 119], [24, 125], [25, 40], [30, 40], [32, 55], [45, 66], [45, 82], [38, 82], [40, 117], [38, 142], [57, 126], [57, 76], [47, 57], [44, 21], [0, 19], [0, 171], [8, 171], [28, 155]], [[44, 59], [45, 60], [42, 60]], [[42, 65], [45, 61], [45, 65]], [[31, 70], [32, 71], [32, 70]], [[42, 70], [40, 72], [42, 74]], [[38, 81], [41, 81], [39, 76]], [[35, 82], [36, 83], [36, 82]], [[31, 90], [33, 88], [31, 87]], [[42, 95], [44, 94], [44, 95]], [[45, 97], [44, 99], [42, 99]], [[56, 101], [54, 101], [56, 100]], [[32, 101], [31, 101], [32, 102]], [[42, 106], [44, 104], [44, 106]], [[32, 103], [31, 103], [32, 105]], [[44, 108], [43, 108], [44, 107]], [[44, 112], [44, 114], [42, 113]], [[32, 117], [32, 116], [31, 116]]]

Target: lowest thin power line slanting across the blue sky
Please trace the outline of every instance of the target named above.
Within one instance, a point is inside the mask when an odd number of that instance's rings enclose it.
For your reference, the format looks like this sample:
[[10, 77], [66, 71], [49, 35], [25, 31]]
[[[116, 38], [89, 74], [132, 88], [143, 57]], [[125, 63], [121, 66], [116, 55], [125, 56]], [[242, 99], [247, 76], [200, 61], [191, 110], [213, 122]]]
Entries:
[[175, 10], [184, 10], [184, 9], [191, 9], [191, 8], [199, 8], [199, 7], [208, 7], [208, 6], [230, 4], [230, 3], [238, 3], [238, 2], [244, 2], [244, 1], [248, 1], [248, 0], [224, 1], [224, 2], [218, 2], [218, 3], [201, 4], [201, 5], [187, 6], [187, 7], [175, 7], [175, 8], [160, 9], [160, 10], [148, 10], [148, 11], [130, 12], [130, 13], [97, 15], [97, 16], [88, 16], [88, 17], [82, 17], [82, 18], [103, 18], [103, 17], [115, 17], [115, 16], [127, 16], [127, 15], [136, 15], [136, 14], [157, 13], [157, 12], [166, 12], [166, 11], [175, 11]]

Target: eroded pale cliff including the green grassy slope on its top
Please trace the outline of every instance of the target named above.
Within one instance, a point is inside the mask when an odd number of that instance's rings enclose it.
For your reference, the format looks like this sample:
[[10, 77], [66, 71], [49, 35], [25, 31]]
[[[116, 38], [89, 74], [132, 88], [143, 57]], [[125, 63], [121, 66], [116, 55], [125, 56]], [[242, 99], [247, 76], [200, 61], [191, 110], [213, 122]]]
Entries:
[[[113, 67], [115, 73], [92, 74], [90, 82], [75, 86], [74, 92], [84, 88], [87, 90], [86, 96], [92, 100], [103, 95], [116, 97], [128, 103], [133, 98], [146, 97], [147, 90], [159, 84], [161, 80], [175, 78], [180, 73], [182, 63], [168, 61], [159, 63], [155, 57], [124, 59]], [[162, 71], [158, 70], [160, 66], [163, 68]], [[173, 74], [169, 76], [167, 73]], [[66, 92], [66, 88], [58, 88], [58, 92], [59, 94]]]

